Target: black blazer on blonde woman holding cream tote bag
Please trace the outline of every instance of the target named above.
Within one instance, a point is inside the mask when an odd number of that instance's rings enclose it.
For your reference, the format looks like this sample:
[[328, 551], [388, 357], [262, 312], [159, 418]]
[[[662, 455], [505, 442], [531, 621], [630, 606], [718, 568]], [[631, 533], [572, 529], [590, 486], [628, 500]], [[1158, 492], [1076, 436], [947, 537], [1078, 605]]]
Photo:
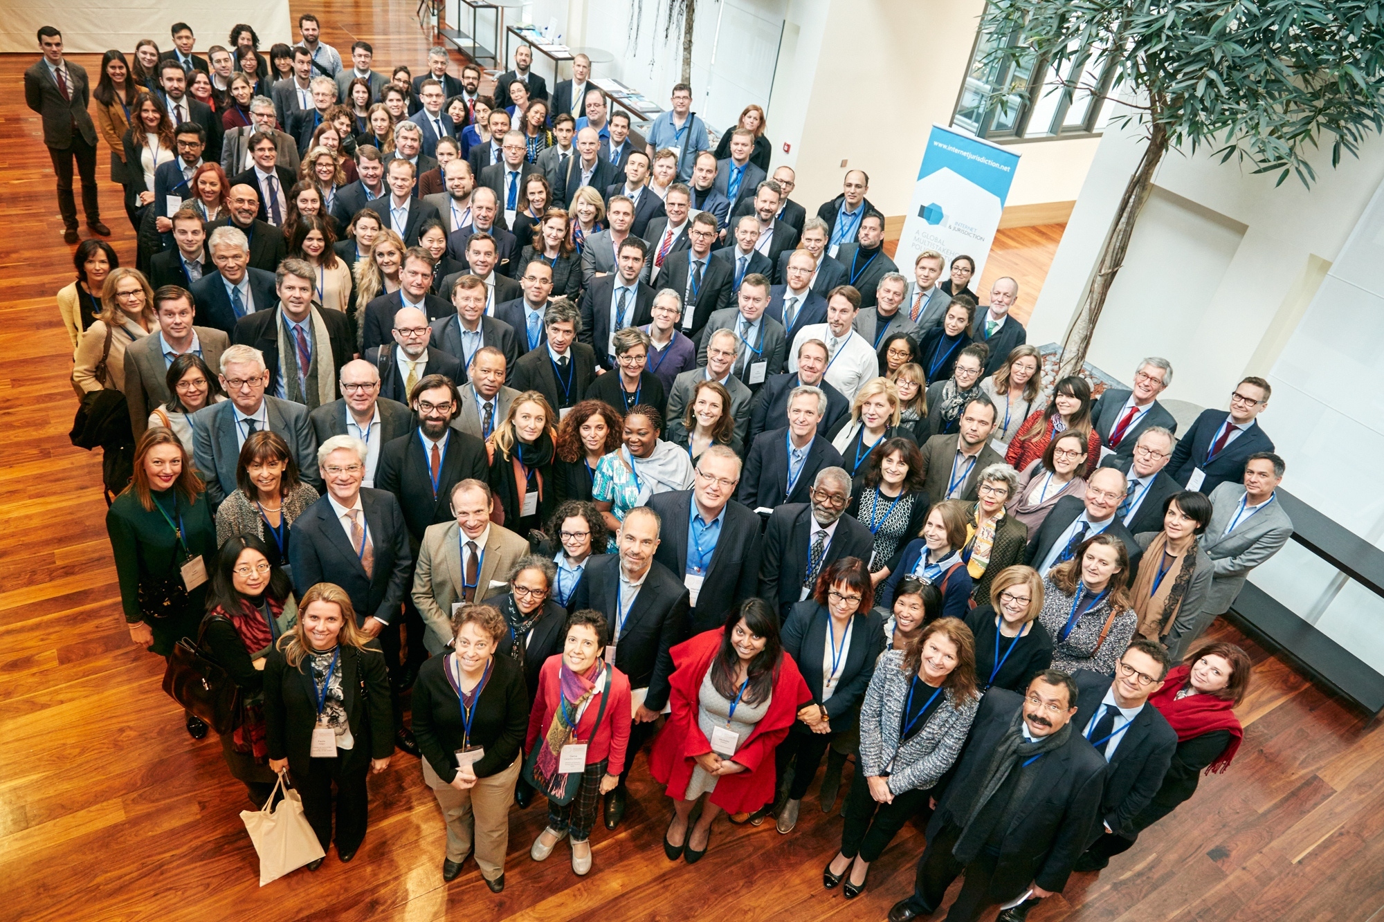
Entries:
[[[342, 644], [340, 651], [338, 669], [342, 676], [342, 706], [356, 745], [338, 752], [343, 771], [363, 770], [370, 759], [389, 759], [394, 752], [394, 716], [389, 705], [385, 655], [375, 640], [365, 644], [365, 649]], [[293, 669], [284, 659], [282, 651], [270, 649], [264, 660], [264, 736], [268, 757], [288, 759], [293, 774], [306, 775], [316, 725], [317, 684], [307, 658]]]

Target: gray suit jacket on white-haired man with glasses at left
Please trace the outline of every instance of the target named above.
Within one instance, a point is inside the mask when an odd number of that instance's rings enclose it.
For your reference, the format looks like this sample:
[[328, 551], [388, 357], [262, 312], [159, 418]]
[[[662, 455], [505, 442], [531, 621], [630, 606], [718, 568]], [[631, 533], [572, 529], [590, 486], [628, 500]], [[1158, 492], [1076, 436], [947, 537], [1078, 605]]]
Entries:
[[[282, 436], [298, 460], [298, 473], [304, 483], [321, 493], [317, 475], [317, 437], [307, 418], [307, 407], [264, 395], [268, 429]], [[206, 480], [206, 498], [220, 505], [235, 491], [235, 467], [241, 458], [237, 437], [235, 404], [230, 400], [203, 407], [192, 414], [192, 460]]]

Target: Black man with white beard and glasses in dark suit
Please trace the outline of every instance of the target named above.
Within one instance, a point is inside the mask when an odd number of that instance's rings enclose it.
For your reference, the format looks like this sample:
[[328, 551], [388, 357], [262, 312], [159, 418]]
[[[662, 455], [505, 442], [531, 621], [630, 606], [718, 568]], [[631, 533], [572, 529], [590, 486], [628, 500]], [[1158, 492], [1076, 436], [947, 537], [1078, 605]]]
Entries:
[[868, 561], [875, 548], [869, 529], [846, 515], [851, 475], [846, 468], [822, 468], [812, 480], [811, 503], [789, 503], [774, 509], [764, 529], [760, 558], [760, 598], [779, 612], [812, 594], [822, 569], [843, 557]]

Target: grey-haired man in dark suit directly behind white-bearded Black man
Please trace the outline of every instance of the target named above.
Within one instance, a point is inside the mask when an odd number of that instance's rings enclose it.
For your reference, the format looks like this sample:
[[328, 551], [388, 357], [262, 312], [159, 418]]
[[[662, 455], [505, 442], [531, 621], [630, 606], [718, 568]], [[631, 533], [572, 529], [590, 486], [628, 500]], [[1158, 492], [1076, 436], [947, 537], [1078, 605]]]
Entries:
[[810, 486], [822, 468], [841, 467], [840, 453], [818, 424], [826, 415], [826, 395], [819, 388], [794, 388], [787, 400], [787, 425], [761, 432], [750, 449], [740, 483], [740, 504], [775, 509], [785, 503], [808, 503]]

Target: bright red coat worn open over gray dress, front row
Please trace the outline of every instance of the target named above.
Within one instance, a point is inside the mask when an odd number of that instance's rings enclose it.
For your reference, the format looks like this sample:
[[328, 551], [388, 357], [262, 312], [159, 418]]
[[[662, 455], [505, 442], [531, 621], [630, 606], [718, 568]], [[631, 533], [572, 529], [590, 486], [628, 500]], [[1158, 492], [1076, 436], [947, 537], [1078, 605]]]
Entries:
[[[685, 799], [696, 756], [711, 752], [711, 743], [696, 723], [698, 692], [707, 670], [711, 669], [711, 660], [721, 649], [724, 631], [724, 627], [703, 631], [670, 651], [674, 671], [668, 677], [673, 685], [668, 703], [673, 713], [653, 742], [649, 772], [659, 784], [667, 786], [667, 795], [674, 800]], [[734, 761], [745, 766], [746, 771], [721, 775], [716, 782], [716, 790], [710, 795], [711, 803], [727, 813], [745, 813], [758, 810], [774, 799], [774, 749], [783, 742], [793, 721], [797, 720], [797, 710], [810, 700], [812, 692], [807, 689], [807, 683], [797, 671], [797, 663], [783, 653], [768, 713], [754, 725], [749, 739], [734, 757]]]

